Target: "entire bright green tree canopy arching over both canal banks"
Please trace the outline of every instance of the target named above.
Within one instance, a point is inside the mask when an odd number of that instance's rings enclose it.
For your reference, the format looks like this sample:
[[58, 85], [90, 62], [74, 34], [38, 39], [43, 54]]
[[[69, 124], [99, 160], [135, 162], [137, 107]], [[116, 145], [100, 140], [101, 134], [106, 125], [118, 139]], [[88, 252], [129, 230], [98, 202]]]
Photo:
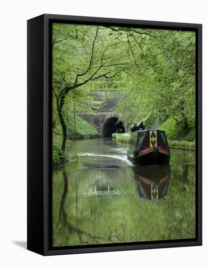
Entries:
[[53, 24], [53, 118], [61, 125], [62, 151], [72, 123], [65, 115], [76, 121], [77, 112], [102, 106], [91, 94], [97, 81], [109, 89], [122, 82], [126, 95], [114, 111], [125, 123], [154, 111], [160, 122], [173, 119], [173, 129], [195, 138], [195, 32]]

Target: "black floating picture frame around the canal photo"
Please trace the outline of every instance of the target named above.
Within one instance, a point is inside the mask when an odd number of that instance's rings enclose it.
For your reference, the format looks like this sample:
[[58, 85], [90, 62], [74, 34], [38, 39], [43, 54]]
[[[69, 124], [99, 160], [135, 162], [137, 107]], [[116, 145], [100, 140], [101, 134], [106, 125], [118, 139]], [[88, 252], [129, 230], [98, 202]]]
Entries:
[[[52, 248], [52, 22], [196, 32], [196, 238]], [[27, 249], [41, 255], [202, 245], [202, 25], [43, 14], [27, 21]]]

